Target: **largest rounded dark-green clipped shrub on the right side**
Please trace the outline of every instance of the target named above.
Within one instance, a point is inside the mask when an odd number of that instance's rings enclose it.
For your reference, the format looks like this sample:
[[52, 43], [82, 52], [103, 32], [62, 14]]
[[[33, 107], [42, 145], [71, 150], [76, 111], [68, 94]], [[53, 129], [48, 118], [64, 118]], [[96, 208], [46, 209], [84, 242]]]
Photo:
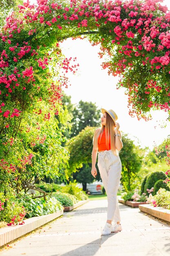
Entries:
[[151, 189], [152, 187], [154, 187], [155, 182], [157, 182], [157, 180], [165, 180], [166, 179], [166, 174], [162, 171], [160, 172], [153, 172], [150, 173], [150, 175], [148, 175], [147, 179], [146, 179], [146, 184], [144, 186], [144, 193], [146, 193], [146, 195], [149, 195], [147, 189]]

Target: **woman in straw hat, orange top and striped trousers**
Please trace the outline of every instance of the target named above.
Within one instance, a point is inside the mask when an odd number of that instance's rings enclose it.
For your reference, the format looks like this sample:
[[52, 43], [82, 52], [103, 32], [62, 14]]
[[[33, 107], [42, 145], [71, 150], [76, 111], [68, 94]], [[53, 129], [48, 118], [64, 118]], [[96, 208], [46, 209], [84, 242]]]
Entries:
[[[91, 174], [95, 177], [95, 167], [98, 151], [99, 173], [104, 184], [108, 199], [107, 222], [102, 235], [121, 231], [120, 213], [117, 203], [117, 190], [121, 176], [121, 160], [118, 151], [123, 147], [119, 124], [116, 123], [117, 115], [113, 110], [102, 108], [102, 127], [95, 130], [93, 137], [92, 169]], [[117, 222], [114, 226], [112, 221]]]

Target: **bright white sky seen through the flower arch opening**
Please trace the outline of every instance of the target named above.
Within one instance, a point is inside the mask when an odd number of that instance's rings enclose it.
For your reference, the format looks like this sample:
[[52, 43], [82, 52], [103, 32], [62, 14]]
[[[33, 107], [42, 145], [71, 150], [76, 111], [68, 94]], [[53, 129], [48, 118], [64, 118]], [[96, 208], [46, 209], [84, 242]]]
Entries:
[[[31, 0], [30, 2], [35, 2]], [[170, 1], [164, 0], [170, 9]], [[116, 89], [118, 77], [108, 76], [107, 70], [102, 70], [102, 59], [98, 57], [99, 46], [92, 47], [87, 40], [72, 40], [68, 38], [62, 44], [62, 52], [66, 57], [77, 57], [79, 71], [76, 75], [68, 74], [71, 86], [63, 88], [71, 95], [72, 103], [92, 101], [98, 108], [113, 109], [117, 116], [120, 130], [128, 133], [131, 139], [139, 139], [141, 147], [148, 146], [151, 150], [170, 135], [170, 122], [166, 122], [168, 114], [164, 111], [151, 111], [152, 120], [137, 120], [128, 114], [125, 89]], [[161, 128], [166, 124], [166, 128]]]

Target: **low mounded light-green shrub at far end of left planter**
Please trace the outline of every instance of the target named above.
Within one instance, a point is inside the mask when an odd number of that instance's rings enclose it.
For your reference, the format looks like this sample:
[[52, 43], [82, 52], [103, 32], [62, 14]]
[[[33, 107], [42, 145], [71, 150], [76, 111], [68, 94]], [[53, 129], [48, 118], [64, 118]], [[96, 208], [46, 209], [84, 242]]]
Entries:
[[79, 202], [79, 200], [75, 197], [75, 195], [71, 195], [68, 193], [62, 193], [60, 191], [53, 192], [52, 197], [55, 197], [58, 201], [62, 203], [63, 206], [72, 206]]

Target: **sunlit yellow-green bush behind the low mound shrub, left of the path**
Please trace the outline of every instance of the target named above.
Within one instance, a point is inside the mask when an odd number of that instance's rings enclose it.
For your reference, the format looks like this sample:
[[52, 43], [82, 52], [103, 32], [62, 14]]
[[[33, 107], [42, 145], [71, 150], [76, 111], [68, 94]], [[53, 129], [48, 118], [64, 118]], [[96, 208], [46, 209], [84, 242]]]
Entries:
[[62, 192], [75, 195], [78, 200], [88, 199], [88, 196], [86, 195], [86, 193], [77, 186], [77, 183], [75, 180], [73, 182], [69, 182], [69, 184], [67, 184], [66, 186], [63, 186]]

